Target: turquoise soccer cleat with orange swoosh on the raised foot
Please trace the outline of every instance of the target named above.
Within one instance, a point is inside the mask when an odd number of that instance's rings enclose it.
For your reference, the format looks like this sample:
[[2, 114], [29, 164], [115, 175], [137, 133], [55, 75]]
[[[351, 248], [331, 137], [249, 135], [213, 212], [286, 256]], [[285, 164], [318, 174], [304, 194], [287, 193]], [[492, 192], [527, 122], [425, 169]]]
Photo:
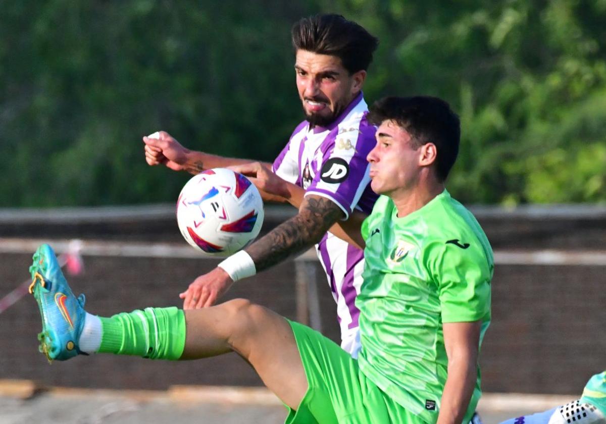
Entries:
[[29, 291], [42, 316], [42, 333], [38, 334], [40, 351], [49, 362], [83, 354], [78, 339], [84, 325], [84, 294], [74, 296], [49, 245], [43, 244], [36, 250], [30, 273]]

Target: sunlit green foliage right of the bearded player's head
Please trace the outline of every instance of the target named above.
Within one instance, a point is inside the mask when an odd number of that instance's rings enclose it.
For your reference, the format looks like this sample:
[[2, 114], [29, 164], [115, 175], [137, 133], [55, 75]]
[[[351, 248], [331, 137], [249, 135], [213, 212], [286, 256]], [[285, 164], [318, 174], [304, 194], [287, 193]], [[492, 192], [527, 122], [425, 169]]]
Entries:
[[456, 197], [606, 201], [604, 1], [338, 4], [381, 39], [370, 98], [433, 94], [458, 111]]

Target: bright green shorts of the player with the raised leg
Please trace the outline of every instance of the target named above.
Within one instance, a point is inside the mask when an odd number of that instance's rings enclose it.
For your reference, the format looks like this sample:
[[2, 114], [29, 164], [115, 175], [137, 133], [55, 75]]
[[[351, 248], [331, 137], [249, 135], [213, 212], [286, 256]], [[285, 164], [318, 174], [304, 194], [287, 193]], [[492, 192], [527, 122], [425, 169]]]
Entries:
[[318, 331], [288, 321], [307, 376], [307, 393], [291, 423], [411, 423], [427, 424], [408, 412], [360, 371], [358, 361]]

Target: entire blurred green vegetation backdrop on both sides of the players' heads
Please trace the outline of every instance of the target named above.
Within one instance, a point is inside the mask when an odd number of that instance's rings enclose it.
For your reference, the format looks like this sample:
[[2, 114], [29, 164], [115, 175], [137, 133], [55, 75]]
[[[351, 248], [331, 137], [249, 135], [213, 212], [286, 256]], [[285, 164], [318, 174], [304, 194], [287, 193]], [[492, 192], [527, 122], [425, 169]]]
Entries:
[[606, 0], [0, 0], [0, 206], [172, 202], [141, 137], [271, 161], [301, 121], [289, 30], [381, 39], [365, 87], [461, 116], [468, 203], [606, 201]]

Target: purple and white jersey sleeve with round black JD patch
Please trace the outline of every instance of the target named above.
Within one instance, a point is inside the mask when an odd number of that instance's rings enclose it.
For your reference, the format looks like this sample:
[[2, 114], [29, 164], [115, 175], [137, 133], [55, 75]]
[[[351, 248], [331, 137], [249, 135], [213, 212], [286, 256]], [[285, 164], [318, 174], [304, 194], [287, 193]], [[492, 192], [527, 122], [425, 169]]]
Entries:
[[375, 127], [362, 119], [358, 128], [328, 136], [322, 144], [322, 164], [305, 196], [316, 194], [333, 200], [345, 213], [345, 219], [356, 207], [367, 185], [366, 156], [375, 147]]

